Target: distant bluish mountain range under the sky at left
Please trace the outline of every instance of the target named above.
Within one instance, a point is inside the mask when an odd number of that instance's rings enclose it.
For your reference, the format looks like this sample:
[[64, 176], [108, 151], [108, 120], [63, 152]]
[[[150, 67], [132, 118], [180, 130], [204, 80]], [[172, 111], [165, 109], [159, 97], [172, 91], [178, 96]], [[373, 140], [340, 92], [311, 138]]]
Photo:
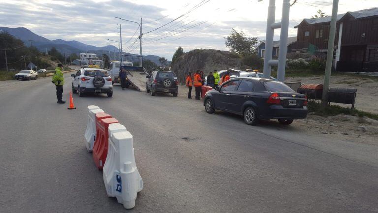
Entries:
[[[50, 50], [52, 47], [55, 47], [60, 53], [62, 54], [72, 54], [72, 53], [80, 53], [80, 52], [89, 52], [89, 53], [96, 53], [97, 55], [102, 55], [103, 53], [108, 53], [110, 50], [110, 55], [117, 55], [119, 49], [113, 45], [110, 46], [103, 46], [103, 47], [96, 47], [88, 44], [81, 43], [79, 41], [65, 41], [62, 39], [56, 40], [49, 40], [45, 37], [39, 36], [33, 33], [31, 30], [18, 27], [18, 28], [9, 28], [9, 27], [0, 27], [0, 32], [8, 32], [12, 36], [22, 40], [26, 46], [30, 46], [31, 44], [37, 47], [40, 51], [47, 51]], [[32, 40], [32, 42], [31, 42]], [[159, 56], [156, 55], [147, 55], [143, 56], [144, 59], [148, 59], [156, 64], [159, 63]]]

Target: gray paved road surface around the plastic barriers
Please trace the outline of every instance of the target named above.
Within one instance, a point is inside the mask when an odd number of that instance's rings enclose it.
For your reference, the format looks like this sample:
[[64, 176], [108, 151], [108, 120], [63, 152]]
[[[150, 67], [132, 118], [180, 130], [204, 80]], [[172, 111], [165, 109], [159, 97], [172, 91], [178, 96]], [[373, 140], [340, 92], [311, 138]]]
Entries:
[[[114, 90], [113, 98], [74, 95], [77, 109], [67, 110], [50, 78], [0, 82], [1, 213], [378, 212], [376, 146], [277, 122], [248, 126], [183, 96]], [[106, 196], [84, 147], [87, 105], [134, 136], [144, 189], [131, 211]]]

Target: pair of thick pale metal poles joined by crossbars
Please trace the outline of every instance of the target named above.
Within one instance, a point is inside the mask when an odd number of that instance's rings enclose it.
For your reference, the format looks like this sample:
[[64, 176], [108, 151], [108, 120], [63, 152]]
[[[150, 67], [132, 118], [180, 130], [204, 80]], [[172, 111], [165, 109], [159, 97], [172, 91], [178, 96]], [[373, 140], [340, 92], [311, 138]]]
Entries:
[[[262, 1], [262, 0], [258, 0]], [[265, 56], [264, 56], [264, 78], [270, 78], [272, 65], [277, 65], [277, 79], [285, 80], [287, 35], [289, 29], [290, 0], [284, 0], [282, 4], [281, 22], [275, 23], [276, 0], [269, 0], [268, 19], [266, 23]], [[280, 49], [278, 60], [272, 59], [274, 29], [281, 28]]]

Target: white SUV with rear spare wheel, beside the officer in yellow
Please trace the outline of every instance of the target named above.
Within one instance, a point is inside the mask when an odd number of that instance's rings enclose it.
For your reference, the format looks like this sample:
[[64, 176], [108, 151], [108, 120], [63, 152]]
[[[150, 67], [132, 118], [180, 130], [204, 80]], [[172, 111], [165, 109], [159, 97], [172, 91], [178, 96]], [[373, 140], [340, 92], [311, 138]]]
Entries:
[[108, 72], [100, 68], [82, 68], [71, 74], [72, 93], [78, 93], [83, 97], [85, 93], [106, 93], [108, 97], [113, 96], [112, 78]]

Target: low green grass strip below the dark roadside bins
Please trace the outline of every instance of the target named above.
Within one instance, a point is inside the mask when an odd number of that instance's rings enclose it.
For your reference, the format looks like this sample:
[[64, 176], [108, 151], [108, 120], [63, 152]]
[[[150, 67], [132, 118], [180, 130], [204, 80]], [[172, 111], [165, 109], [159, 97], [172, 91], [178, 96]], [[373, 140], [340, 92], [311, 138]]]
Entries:
[[341, 106], [338, 106], [338, 105], [327, 106], [323, 109], [323, 107], [321, 106], [321, 103], [316, 103], [316, 102], [313, 102], [313, 101], [308, 103], [308, 109], [309, 109], [309, 112], [314, 112], [315, 115], [320, 115], [320, 116], [323, 116], [323, 117], [335, 116], [335, 115], [339, 115], [339, 114], [346, 114], [346, 115], [354, 115], [354, 116], [358, 116], [358, 117], [364, 117], [365, 116], [365, 117], [368, 117], [368, 118], [378, 120], [378, 114], [373, 114], [373, 113], [370, 113], [370, 112], [364, 112], [364, 111], [360, 111], [358, 109], [345, 108], [345, 107], [341, 107]]

